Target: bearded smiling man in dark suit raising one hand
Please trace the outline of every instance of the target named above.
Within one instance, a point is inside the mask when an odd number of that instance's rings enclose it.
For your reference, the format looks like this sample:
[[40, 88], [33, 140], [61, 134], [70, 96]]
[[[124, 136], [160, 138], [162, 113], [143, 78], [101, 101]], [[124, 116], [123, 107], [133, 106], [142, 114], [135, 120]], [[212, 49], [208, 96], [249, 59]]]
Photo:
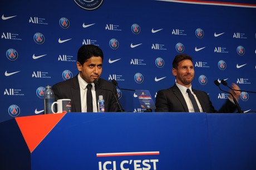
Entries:
[[[191, 87], [195, 71], [190, 56], [186, 54], [177, 55], [173, 61], [172, 72], [176, 77], [176, 82], [173, 87], [157, 92], [155, 112], [233, 113], [237, 108], [233, 99], [229, 97], [219, 111], [216, 111], [207, 93]], [[239, 89], [237, 84], [234, 83], [232, 88]], [[191, 95], [189, 93], [193, 94], [194, 99], [190, 99], [189, 96]], [[230, 91], [230, 93], [237, 100], [240, 98], [240, 92]]]

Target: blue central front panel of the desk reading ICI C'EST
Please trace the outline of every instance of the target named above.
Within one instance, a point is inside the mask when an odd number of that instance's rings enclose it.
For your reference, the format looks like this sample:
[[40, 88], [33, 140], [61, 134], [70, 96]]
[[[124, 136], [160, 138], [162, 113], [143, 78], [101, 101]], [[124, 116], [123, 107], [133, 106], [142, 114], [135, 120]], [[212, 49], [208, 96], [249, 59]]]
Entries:
[[[32, 152], [32, 169], [146, 168], [209, 169], [206, 114], [68, 113]], [[152, 152], [159, 155], [97, 157], [99, 153]], [[102, 166], [99, 166], [99, 162]], [[154, 169], [154, 164], [149, 163]], [[147, 167], [148, 168], [148, 167]]]

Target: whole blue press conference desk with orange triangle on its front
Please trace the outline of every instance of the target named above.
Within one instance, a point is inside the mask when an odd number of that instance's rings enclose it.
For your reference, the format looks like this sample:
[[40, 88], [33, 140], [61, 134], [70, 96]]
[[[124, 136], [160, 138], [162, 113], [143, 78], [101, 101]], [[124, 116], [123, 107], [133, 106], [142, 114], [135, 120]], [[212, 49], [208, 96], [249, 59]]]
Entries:
[[0, 130], [0, 169], [256, 169], [254, 113], [59, 113]]

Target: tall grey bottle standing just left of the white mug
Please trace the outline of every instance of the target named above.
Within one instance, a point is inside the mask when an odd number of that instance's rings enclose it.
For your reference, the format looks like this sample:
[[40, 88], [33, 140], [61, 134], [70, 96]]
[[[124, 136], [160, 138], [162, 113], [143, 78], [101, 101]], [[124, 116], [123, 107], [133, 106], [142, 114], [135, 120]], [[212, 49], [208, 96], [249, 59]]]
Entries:
[[43, 100], [45, 102], [45, 114], [52, 113], [51, 111], [51, 106], [52, 103], [54, 102], [54, 93], [52, 91], [51, 86], [46, 86], [46, 90], [43, 93]]

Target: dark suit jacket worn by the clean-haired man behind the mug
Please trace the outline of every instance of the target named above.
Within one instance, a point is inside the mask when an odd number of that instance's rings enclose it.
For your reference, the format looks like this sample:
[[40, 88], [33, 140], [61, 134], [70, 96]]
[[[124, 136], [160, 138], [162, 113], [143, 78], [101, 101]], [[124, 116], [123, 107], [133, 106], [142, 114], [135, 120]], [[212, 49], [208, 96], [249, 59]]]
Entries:
[[[60, 82], [52, 86], [52, 90], [55, 94], [55, 101], [63, 98], [71, 99], [71, 112], [81, 112], [81, 94], [78, 75], [79, 74], [67, 81]], [[117, 97], [117, 91], [114, 84], [102, 78], [99, 79], [98, 83], [99, 86], [96, 88], [96, 100], [98, 101], [99, 95], [102, 95], [105, 100], [105, 112], [119, 111], [120, 109], [117, 106], [112, 93], [114, 92]], [[103, 89], [107, 89], [109, 91]]]

